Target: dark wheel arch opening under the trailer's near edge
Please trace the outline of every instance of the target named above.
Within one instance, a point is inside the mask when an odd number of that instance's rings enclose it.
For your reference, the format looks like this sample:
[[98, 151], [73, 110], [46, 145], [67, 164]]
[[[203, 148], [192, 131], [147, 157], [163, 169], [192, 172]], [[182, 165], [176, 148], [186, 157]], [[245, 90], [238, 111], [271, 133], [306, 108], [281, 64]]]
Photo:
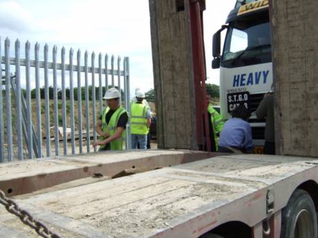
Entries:
[[[252, 228], [242, 221], [227, 221], [209, 230], [209, 232], [206, 232], [199, 238], [237, 238], [237, 234], [246, 238], [252, 237]], [[208, 235], [211, 235], [211, 237]]]

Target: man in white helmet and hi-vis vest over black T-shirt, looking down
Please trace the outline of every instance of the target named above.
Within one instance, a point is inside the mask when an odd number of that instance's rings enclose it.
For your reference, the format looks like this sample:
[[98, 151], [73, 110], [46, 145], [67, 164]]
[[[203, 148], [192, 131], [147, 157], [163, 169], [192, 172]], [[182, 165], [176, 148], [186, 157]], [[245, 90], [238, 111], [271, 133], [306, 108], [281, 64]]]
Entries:
[[128, 121], [126, 110], [120, 106], [120, 92], [116, 88], [109, 88], [103, 99], [108, 107], [103, 110], [97, 121], [96, 131], [100, 140], [93, 146], [100, 146], [100, 150], [122, 150], [124, 130]]

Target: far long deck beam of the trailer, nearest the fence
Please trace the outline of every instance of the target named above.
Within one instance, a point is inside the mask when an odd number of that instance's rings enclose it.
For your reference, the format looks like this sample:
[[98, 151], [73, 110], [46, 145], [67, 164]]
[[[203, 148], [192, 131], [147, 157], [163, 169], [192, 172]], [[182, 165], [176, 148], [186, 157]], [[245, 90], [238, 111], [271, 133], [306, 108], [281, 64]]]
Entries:
[[15, 196], [91, 177], [94, 173], [113, 177], [127, 168], [150, 170], [213, 156], [189, 150], [124, 150], [1, 163], [0, 189], [8, 196]]

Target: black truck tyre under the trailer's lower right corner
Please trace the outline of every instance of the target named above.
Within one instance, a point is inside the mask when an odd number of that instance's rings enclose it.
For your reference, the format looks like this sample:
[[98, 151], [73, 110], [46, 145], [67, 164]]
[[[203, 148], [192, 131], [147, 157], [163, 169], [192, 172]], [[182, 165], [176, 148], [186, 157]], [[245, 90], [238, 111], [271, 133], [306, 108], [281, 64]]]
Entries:
[[315, 204], [309, 193], [297, 189], [281, 214], [281, 238], [317, 237]]

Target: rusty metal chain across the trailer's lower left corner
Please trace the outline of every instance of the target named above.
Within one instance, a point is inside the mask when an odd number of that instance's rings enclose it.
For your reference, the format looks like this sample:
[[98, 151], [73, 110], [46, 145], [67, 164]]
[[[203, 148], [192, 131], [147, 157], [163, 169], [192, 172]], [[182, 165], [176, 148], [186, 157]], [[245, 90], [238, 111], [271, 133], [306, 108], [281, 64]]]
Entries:
[[12, 199], [8, 199], [2, 190], [0, 190], [0, 204], [5, 206], [8, 212], [19, 217], [24, 224], [30, 226], [30, 228], [33, 228], [41, 237], [61, 238], [59, 235], [48, 230], [46, 225], [44, 225], [41, 221], [37, 221], [34, 217], [32, 217], [28, 211], [19, 208], [18, 204]]

